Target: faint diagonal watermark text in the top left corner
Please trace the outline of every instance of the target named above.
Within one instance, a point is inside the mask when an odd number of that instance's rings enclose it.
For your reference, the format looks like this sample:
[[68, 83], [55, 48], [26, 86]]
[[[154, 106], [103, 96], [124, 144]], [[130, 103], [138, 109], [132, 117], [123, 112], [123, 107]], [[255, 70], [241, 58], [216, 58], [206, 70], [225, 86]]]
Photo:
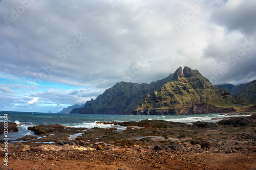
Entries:
[[10, 23], [15, 22], [34, 2], [35, 0], [20, 0], [20, 5], [16, 9], [11, 9], [10, 16], [4, 16], [7, 27], [10, 27]]

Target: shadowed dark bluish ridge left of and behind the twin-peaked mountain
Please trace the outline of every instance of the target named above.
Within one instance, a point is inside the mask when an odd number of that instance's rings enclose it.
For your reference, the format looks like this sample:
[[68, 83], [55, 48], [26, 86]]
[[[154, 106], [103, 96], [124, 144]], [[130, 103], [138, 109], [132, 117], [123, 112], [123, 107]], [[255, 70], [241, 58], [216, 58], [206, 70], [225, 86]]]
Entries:
[[168, 77], [150, 84], [116, 83], [95, 100], [88, 101], [78, 112], [73, 109], [70, 113], [130, 114], [143, 101], [147, 93], [154, 92], [172, 78], [173, 74], [170, 74]]

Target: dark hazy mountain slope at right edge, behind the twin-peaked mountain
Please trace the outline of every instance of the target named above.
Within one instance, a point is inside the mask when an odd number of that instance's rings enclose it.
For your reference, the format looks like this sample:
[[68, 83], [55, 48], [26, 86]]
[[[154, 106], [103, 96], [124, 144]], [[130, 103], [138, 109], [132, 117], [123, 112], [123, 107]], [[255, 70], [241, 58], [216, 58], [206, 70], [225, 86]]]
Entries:
[[240, 84], [238, 86], [224, 84], [217, 85], [217, 87], [233, 95], [240, 96], [241, 98], [247, 100], [250, 104], [256, 104], [256, 80], [247, 84]]

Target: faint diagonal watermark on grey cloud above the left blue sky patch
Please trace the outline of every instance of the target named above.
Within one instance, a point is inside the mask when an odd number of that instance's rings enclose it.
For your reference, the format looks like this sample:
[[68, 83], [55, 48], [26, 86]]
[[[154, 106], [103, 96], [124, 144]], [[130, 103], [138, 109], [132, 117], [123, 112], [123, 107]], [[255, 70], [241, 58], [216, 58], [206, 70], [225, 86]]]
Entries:
[[[79, 35], [75, 34], [73, 41], [66, 47], [62, 47], [61, 50], [56, 53], [56, 57], [59, 58], [61, 62], [65, 61], [67, 56], [70, 56], [76, 50], [76, 47], [81, 45], [85, 39], [87, 39], [87, 37], [83, 37], [81, 33]], [[44, 71], [41, 71], [39, 76], [34, 76], [34, 82], [42, 82], [46, 80], [48, 76], [53, 73], [53, 70], [59, 66], [60, 61], [52, 60], [50, 65], [42, 66]]]

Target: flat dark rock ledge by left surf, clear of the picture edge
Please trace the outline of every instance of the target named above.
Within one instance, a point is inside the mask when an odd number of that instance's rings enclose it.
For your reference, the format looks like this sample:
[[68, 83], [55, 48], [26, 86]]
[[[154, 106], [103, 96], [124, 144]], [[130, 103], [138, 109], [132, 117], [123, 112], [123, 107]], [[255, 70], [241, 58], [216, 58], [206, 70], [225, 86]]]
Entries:
[[41, 134], [57, 131], [59, 129], [64, 129], [64, 128], [65, 127], [62, 125], [55, 124], [55, 125], [37, 125], [33, 127], [28, 127], [28, 130], [35, 132], [35, 134], [37, 135], [41, 135]]

